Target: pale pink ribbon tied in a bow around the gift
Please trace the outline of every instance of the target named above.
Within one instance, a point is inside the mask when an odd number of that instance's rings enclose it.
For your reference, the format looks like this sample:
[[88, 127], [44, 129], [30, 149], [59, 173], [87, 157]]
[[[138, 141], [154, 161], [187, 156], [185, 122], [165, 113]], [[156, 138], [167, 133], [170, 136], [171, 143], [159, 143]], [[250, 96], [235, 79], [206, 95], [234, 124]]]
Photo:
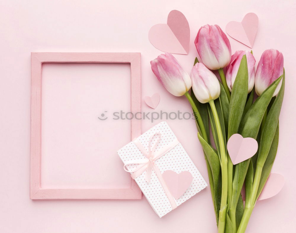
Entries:
[[[153, 139], [155, 137], [156, 137], [156, 143], [155, 143], [155, 145], [153, 146], [153, 148], [151, 150], [151, 144], [152, 144], [152, 141], [153, 141]], [[130, 160], [127, 163], [124, 164], [123, 169], [125, 171], [127, 171], [127, 172], [132, 173], [131, 174], [131, 177], [133, 179], [136, 179], [139, 175], [141, 175], [144, 171], [146, 171], [145, 180], [148, 183], [150, 182], [150, 179], [151, 179], [152, 170], [154, 170], [154, 172], [157, 175], [157, 178], [158, 178], [160, 184], [163, 187], [163, 190], [165, 191], [165, 194], [168, 197], [168, 200], [170, 201], [170, 204], [171, 204], [172, 208], [175, 209], [177, 207], [176, 202], [175, 202], [175, 199], [173, 198], [173, 195], [168, 190], [168, 187], [165, 184], [165, 181], [163, 179], [163, 176], [162, 176], [160, 170], [155, 165], [155, 161], [157, 159], [159, 159], [161, 156], [165, 155], [171, 149], [173, 149], [176, 145], [178, 145], [179, 144], [179, 141], [177, 139], [175, 139], [169, 145], [166, 145], [165, 147], [161, 148], [160, 150], [155, 151], [156, 148], [157, 148], [158, 143], [160, 142], [160, 138], [161, 138], [161, 134], [160, 133], [155, 133], [155, 134], [153, 134], [153, 135], [150, 136], [150, 138], [149, 138], [149, 145], [148, 145], [148, 153], [145, 150], [145, 148], [143, 147], [143, 145], [140, 143], [139, 139], [138, 138], [135, 138], [133, 140], [133, 143], [135, 143], [135, 145], [139, 148], [139, 150], [141, 151], [141, 153], [146, 158]], [[139, 166], [137, 166], [135, 169], [129, 171], [126, 168], [126, 166], [127, 165], [131, 165], [131, 164], [139, 164]]]

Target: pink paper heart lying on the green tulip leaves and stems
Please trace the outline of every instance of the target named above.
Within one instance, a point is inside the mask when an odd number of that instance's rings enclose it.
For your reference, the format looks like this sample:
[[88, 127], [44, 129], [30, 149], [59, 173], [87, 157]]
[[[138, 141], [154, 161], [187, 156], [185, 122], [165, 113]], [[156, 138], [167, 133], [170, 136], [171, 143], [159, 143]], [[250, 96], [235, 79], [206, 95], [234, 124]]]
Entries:
[[236, 133], [232, 135], [227, 142], [227, 151], [233, 164], [251, 158], [258, 150], [258, 143], [254, 138], [242, 137]]

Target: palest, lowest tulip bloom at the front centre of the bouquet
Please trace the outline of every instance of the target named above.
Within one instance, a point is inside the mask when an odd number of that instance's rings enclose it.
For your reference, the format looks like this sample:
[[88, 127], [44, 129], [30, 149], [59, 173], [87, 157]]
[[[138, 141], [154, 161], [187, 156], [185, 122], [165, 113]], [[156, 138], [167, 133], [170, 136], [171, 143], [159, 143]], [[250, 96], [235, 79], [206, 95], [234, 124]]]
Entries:
[[192, 90], [200, 103], [207, 103], [220, 96], [220, 83], [204, 64], [196, 63], [191, 70]]

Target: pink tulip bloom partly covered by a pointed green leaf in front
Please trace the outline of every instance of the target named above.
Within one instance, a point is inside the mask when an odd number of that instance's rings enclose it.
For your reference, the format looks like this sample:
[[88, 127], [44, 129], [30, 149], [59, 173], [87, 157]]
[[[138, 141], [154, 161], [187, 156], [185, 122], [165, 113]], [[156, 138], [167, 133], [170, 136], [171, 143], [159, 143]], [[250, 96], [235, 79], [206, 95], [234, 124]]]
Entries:
[[248, 93], [254, 87], [255, 84], [255, 57], [249, 51], [236, 51], [231, 56], [230, 64], [227, 66], [226, 71], [226, 82], [227, 86], [231, 92], [234, 80], [237, 77], [237, 71], [239, 70], [239, 65], [242, 60], [242, 56], [246, 55], [247, 57], [247, 64], [248, 64], [248, 74], [249, 74], [249, 81], [248, 81]]

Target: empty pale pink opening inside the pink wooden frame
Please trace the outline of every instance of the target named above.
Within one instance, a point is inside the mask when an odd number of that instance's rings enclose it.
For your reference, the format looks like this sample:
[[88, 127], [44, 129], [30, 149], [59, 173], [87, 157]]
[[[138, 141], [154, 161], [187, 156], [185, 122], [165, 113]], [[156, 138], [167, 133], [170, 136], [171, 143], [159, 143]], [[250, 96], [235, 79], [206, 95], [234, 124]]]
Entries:
[[119, 63], [42, 64], [42, 188], [130, 188], [116, 153], [131, 140], [130, 69]]

